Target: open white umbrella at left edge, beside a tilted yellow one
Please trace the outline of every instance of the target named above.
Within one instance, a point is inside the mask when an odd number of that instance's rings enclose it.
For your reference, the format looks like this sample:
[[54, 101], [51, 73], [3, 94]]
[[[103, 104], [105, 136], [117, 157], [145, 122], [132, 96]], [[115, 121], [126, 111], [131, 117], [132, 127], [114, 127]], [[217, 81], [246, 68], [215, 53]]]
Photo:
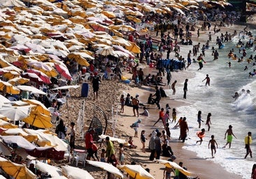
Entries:
[[30, 108], [31, 106], [3, 106], [0, 108], [0, 114], [12, 121], [19, 121], [29, 115]]

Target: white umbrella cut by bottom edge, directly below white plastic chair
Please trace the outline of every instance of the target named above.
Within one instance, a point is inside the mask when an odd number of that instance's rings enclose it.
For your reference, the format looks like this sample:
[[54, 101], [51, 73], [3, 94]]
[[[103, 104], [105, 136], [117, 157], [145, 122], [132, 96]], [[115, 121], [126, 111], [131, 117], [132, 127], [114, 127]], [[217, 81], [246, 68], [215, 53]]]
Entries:
[[69, 179], [94, 179], [89, 172], [78, 167], [62, 166], [62, 172]]

